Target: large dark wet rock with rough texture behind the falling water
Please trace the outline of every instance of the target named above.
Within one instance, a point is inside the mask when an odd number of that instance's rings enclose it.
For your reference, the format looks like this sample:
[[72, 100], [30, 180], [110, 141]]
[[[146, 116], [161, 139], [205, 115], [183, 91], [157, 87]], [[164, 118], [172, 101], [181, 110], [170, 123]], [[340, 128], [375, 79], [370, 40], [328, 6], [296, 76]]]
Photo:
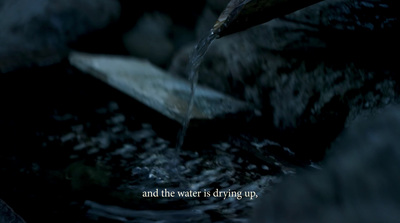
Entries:
[[[397, 9], [390, 0], [326, 0], [223, 37], [199, 82], [253, 103], [263, 134], [321, 158], [348, 120], [397, 100]], [[189, 53], [177, 54], [172, 73], [185, 75]]]

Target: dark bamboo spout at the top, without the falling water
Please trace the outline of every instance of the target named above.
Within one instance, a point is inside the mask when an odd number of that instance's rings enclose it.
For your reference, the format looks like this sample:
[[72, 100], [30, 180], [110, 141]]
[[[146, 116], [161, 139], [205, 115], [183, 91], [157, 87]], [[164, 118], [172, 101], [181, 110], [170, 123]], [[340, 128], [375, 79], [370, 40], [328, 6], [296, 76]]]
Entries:
[[213, 27], [218, 38], [297, 11], [322, 0], [231, 0]]

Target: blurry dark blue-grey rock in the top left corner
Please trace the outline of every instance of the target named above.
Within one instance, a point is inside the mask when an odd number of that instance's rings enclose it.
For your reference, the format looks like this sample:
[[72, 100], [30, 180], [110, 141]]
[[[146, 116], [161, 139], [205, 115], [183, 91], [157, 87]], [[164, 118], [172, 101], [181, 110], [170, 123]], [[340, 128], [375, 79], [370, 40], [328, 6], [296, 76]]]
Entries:
[[119, 17], [116, 0], [2, 1], [0, 73], [59, 62], [68, 44]]

